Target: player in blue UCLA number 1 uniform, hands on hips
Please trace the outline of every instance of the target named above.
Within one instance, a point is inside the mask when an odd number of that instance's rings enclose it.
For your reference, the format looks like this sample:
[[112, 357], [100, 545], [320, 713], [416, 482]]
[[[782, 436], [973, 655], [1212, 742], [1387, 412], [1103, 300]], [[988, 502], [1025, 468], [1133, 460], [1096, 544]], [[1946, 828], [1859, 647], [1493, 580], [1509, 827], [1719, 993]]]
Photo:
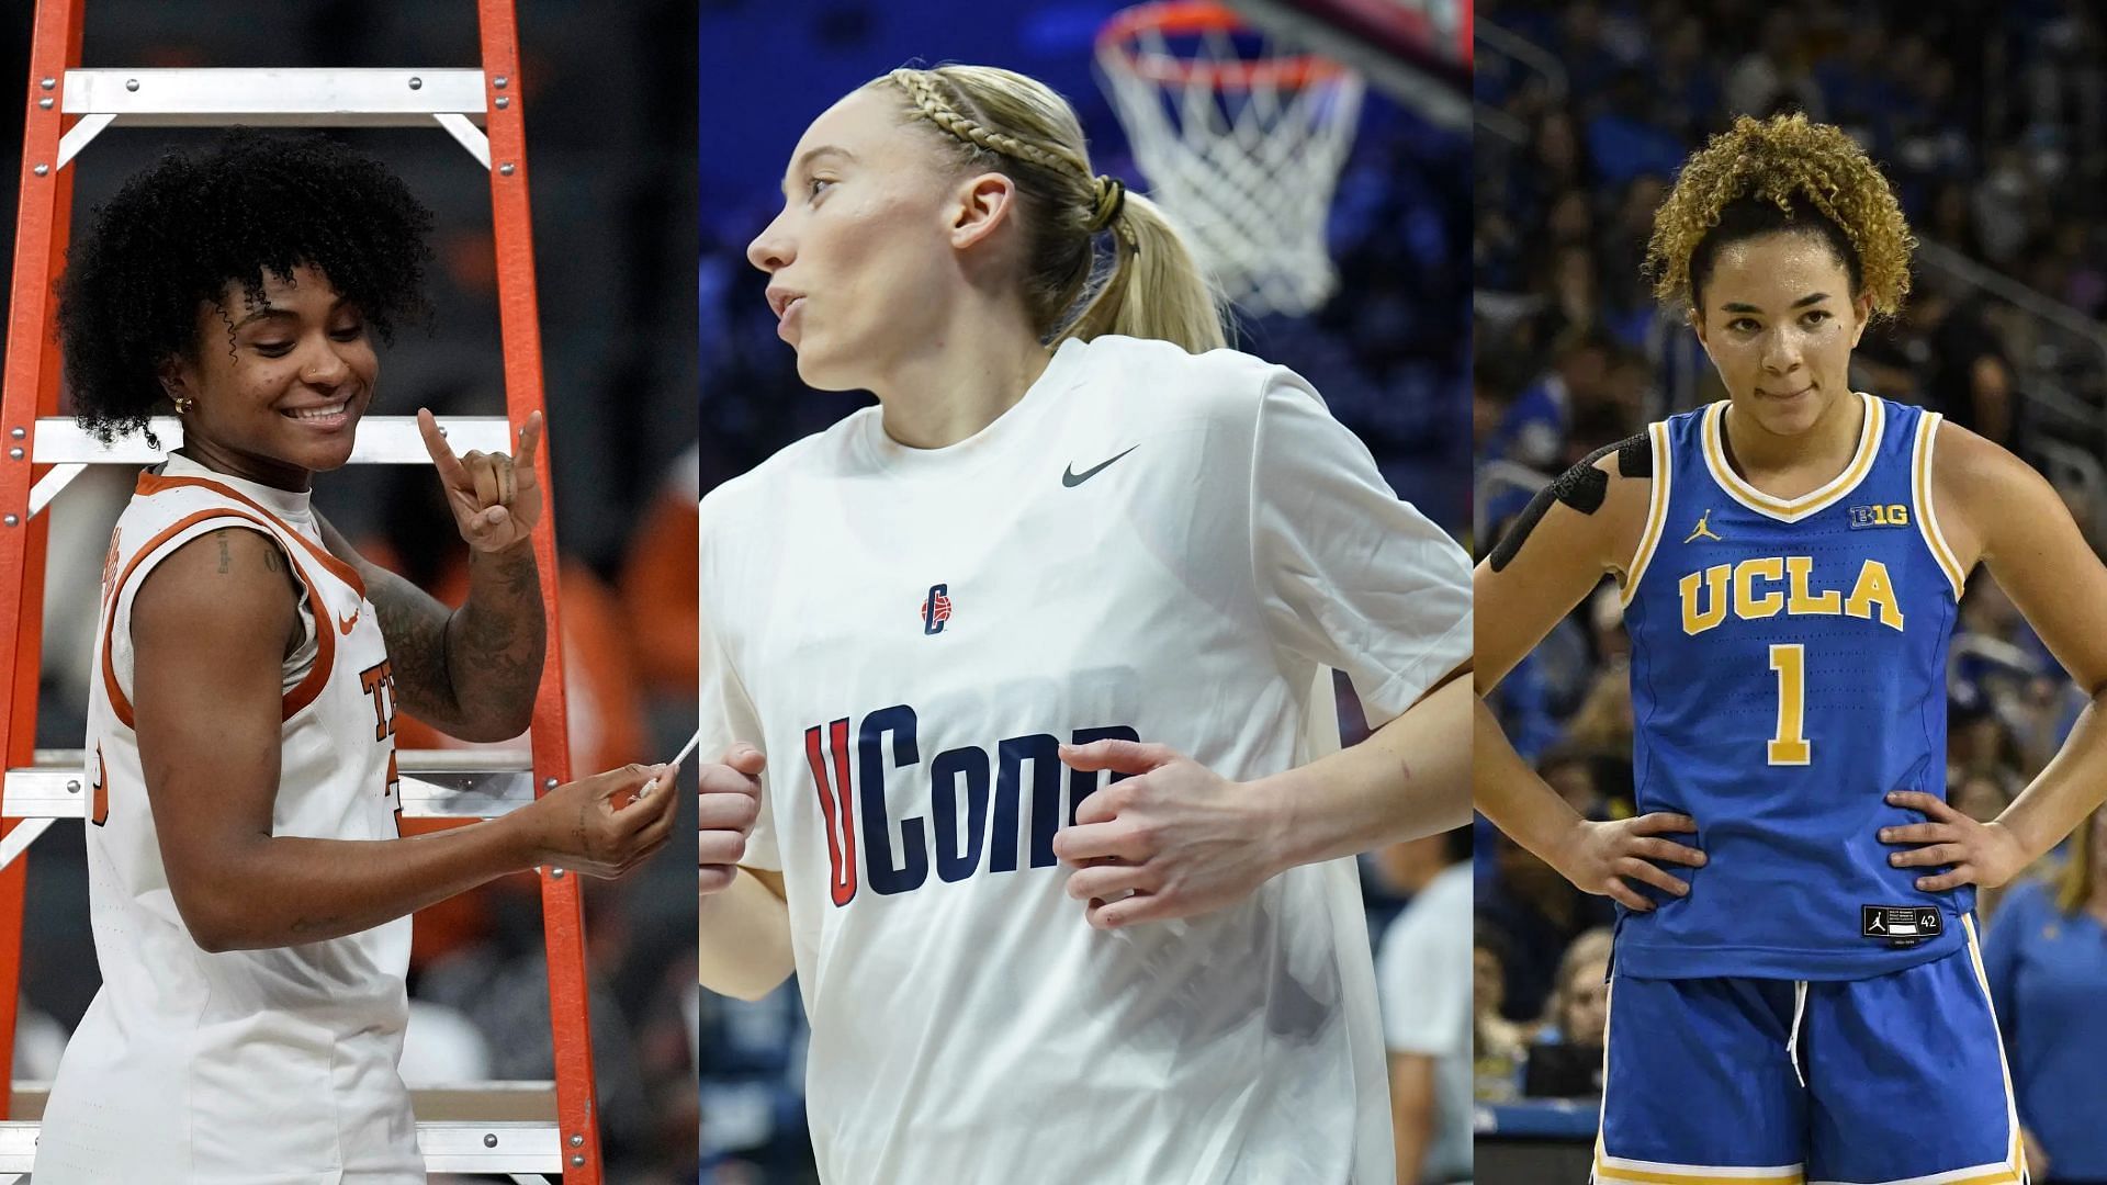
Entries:
[[1648, 253], [1728, 399], [1576, 466], [1477, 571], [1481, 692], [1603, 574], [1622, 584], [1641, 816], [1578, 818], [1483, 704], [1475, 755], [1481, 810], [1627, 907], [1599, 1183], [2025, 1179], [1972, 886], [2101, 799], [2107, 736], [2088, 711], [1997, 822], [1966, 820], [1947, 639], [1987, 567], [2096, 696], [2107, 569], [2002, 447], [1850, 388], [1909, 249], [1842, 131], [1736, 120]]

